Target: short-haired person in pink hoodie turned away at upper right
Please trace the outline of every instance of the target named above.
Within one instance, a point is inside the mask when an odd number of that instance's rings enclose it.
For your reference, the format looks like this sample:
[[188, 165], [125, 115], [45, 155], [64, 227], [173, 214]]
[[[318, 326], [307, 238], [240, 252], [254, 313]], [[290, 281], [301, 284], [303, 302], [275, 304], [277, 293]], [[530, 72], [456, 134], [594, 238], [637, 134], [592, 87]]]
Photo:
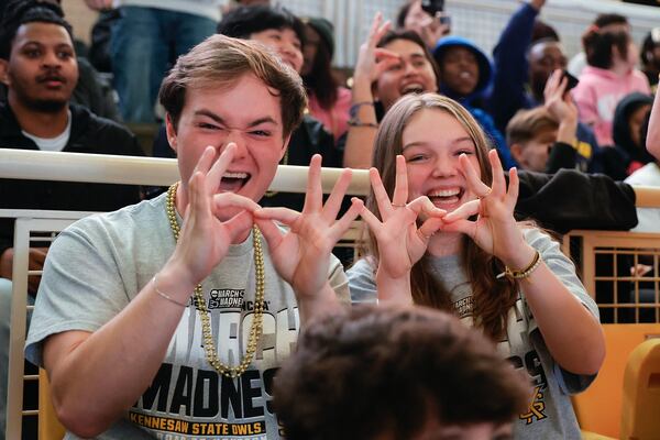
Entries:
[[635, 68], [638, 51], [625, 16], [601, 14], [582, 36], [587, 66], [573, 89], [580, 120], [594, 130], [602, 146], [614, 145], [612, 123], [619, 100], [634, 91], [650, 94], [646, 76]]

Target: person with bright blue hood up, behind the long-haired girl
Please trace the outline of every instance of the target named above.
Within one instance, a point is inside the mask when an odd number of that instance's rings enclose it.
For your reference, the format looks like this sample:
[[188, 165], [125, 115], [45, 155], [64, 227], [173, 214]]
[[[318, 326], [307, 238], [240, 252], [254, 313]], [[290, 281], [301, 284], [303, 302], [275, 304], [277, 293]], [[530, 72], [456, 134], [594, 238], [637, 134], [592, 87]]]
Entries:
[[440, 92], [461, 102], [472, 113], [497, 148], [505, 169], [515, 166], [502, 132], [483, 110], [493, 82], [493, 66], [486, 54], [468, 38], [447, 36], [436, 45], [433, 57], [440, 69]]

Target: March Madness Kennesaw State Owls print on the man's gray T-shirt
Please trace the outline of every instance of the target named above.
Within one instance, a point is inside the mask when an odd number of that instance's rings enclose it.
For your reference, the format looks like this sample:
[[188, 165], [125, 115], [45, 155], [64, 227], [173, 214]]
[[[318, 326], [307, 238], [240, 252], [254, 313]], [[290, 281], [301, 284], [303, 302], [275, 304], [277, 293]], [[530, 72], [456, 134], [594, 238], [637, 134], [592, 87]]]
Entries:
[[[228, 307], [228, 300], [243, 311]], [[254, 319], [251, 304], [233, 290], [218, 292], [209, 302], [217, 353], [222, 362], [235, 365], [246, 350]], [[131, 409], [129, 420], [163, 440], [277, 438], [271, 402], [273, 377], [290, 355], [299, 327], [296, 307], [265, 311], [251, 367], [232, 380], [208, 364], [199, 314], [187, 308], [164, 362]]]

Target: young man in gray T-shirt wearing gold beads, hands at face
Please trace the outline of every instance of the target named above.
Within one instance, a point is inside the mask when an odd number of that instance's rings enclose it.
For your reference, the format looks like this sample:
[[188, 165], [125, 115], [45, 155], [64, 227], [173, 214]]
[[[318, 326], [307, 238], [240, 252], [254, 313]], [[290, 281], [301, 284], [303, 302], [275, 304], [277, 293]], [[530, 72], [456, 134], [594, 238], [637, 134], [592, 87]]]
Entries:
[[362, 204], [336, 220], [350, 172], [323, 206], [320, 156], [302, 213], [256, 204], [306, 107], [300, 78], [261, 46], [208, 38], [161, 102], [182, 182], [58, 237], [26, 355], [68, 439], [277, 439], [274, 371], [301, 324], [348, 300], [330, 252]]

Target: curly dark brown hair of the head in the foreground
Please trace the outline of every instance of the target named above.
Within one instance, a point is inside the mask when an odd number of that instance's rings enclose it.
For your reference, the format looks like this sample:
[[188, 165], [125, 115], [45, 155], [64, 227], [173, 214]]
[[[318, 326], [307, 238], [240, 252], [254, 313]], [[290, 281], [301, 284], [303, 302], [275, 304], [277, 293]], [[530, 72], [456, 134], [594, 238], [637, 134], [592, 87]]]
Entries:
[[491, 341], [449, 314], [355, 306], [307, 328], [274, 396], [288, 440], [410, 439], [433, 418], [508, 424], [529, 389]]

